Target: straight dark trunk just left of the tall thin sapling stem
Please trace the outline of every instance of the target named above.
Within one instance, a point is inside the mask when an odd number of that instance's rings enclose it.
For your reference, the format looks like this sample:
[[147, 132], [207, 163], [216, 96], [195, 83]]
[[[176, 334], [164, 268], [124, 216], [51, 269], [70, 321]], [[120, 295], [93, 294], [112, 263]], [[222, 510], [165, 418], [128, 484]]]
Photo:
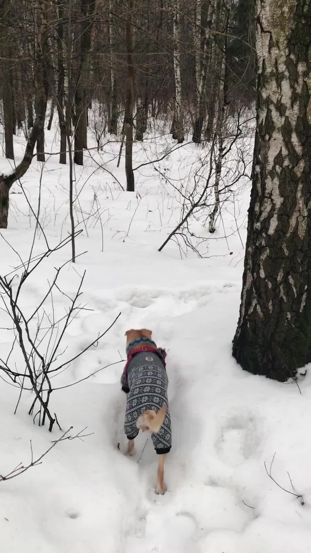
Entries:
[[[66, 164], [66, 121], [64, 116], [65, 100], [65, 68], [63, 54], [64, 40], [64, 8], [63, 0], [58, 0], [58, 33], [57, 33], [57, 60], [58, 60], [58, 83], [57, 83], [57, 112], [60, 128], [60, 154], [59, 163]], [[70, 121], [70, 119], [69, 119]], [[70, 130], [70, 129], [69, 129]]]

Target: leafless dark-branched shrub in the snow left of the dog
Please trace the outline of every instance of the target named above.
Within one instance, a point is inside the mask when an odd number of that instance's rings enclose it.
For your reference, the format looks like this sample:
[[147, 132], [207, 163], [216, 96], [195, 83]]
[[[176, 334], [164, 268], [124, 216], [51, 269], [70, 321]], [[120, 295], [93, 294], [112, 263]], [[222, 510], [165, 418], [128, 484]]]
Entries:
[[[23, 295], [25, 281], [34, 273], [35, 269], [38, 268], [44, 259], [49, 257], [51, 253], [64, 247], [70, 239], [71, 237], [65, 238], [54, 248], [48, 248], [39, 257], [35, 259], [29, 258], [27, 262], [22, 263], [20, 268], [23, 271], [20, 275], [17, 288], [13, 286], [16, 271], [14, 271], [13, 276], [11, 274], [0, 275], [0, 290], [2, 291], [3, 305], [9, 319], [12, 321], [14, 332], [14, 340], [8, 356], [3, 358], [2, 354], [0, 355], [0, 371], [2, 371], [6, 378], [20, 387], [21, 393], [24, 389], [30, 389], [34, 393], [29, 415], [34, 415], [34, 420], [38, 416], [39, 425], [44, 425], [45, 420], [48, 419], [49, 431], [53, 429], [55, 420], [57, 421], [56, 415], [54, 414], [53, 416], [53, 411], [50, 410], [49, 405], [51, 393], [55, 389], [55, 380], [52, 380], [52, 378], [61, 369], [68, 367], [74, 359], [80, 357], [87, 349], [98, 343], [100, 338], [109, 330], [107, 329], [105, 332], [99, 333], [95, 340], [84, 347], [82, 351], [61, 362], [61, 356], [66, 351], [66, 347], [63, 345], [66, 331], [76, 314], [85, 309], [85, 305], [81, 305], [78, 302], [80, 301], [79, 298], [85, 273], [72, 298], [65, 294], [58, 284], [60, 271], [66, 263], [55, 270], [53, 280], [49, 284], [43, 298], [39, 301], [38, 306], [33, 311], [26, 313], [20, 306], [20, 297]], [[69, 300], [69, 307], [65, 316], [61, 314], [58, 317], [55, 313], [53, 300], [53, 294], [55, 293], [62, 294]], [[117, 319], [118, 317], [115, 321]], [[20, 364], [17, 368], [11, 359], [16, 348], [22, 354], [24, 372], [20, 368]], [[27, 385], [25, 382], [29, 384]], [[38, 405], [38, 411], [34, 414], [36, 405]]]

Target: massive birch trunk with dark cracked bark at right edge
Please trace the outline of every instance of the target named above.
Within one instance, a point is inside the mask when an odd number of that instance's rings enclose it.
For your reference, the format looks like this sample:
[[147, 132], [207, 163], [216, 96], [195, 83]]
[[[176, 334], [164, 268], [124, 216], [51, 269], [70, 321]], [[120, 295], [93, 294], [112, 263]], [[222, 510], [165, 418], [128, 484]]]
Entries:
[[233, 355], [246, 371], [281, 382], [311, 361], [307, 6], [256, 3], [256, 149]]

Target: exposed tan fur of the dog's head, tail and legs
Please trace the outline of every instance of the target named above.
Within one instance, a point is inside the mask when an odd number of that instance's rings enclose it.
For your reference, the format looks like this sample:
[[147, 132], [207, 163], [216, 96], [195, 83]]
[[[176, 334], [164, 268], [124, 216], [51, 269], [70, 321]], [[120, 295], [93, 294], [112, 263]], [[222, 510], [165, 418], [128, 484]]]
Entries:
[[[134, 328], [131, 328], [130, 330], [127, 330], [125, 333], [126, 336], [126, 345], [133, 342], [134, 340], [139, 340], [139, 338], [148, 338], [148, 340], [151, 340], [152, 330], [148, 330], [147, 328], [140, 328], [139, 330], [134, 330]], [[144, 346], [146, 347], [154, 347], [152, 343], [144, 342]], [[133, 349], [135, 346], [133, 346]], [[144, 413], [139, 416], [137, 420], [137, 428], [142, 430], [143, 432], [159, 432], [166, 414], [167, 406], [163, 405], [163, 407], [155, 413], [153, 410], [147, 410], [144, 411]], [[134, 450], [134, 440], [128, 440], [127, 444], [127, 455], [132, 455]], [[164, 461], [165, 461], [165, 454], [159, 455], [159, 463], [158, 463], [158, 470], [157, 470], [157, 488], [155, 488], [155, 492], [159, 494], [165, 493], [165, 486], [164, 486]]]

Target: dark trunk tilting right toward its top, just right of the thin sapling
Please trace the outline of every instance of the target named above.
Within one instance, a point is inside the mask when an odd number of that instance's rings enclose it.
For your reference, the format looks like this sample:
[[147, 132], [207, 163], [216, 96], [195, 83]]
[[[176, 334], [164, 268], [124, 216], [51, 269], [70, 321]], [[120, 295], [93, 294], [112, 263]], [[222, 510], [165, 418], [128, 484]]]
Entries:
[[81, 47], [80, 65], [77, 74], [75, 91], [76, 125], [75, 125], [75, 154], [74, 162], [83, 165], [83, 148], [86, 145], [86, 80], [89, 51], [91, 48], [92, 28], [94, 24], [96, 2], [95, 0], [81, 0]]

